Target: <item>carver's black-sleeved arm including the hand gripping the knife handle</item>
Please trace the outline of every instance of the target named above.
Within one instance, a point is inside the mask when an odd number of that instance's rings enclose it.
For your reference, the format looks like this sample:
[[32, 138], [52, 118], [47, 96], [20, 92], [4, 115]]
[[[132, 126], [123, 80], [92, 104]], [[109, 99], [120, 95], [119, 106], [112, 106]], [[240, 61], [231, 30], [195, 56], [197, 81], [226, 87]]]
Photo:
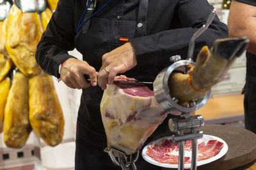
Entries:
[[38, 43], [36, 62], [46, 73], [61, 78], [68, 87], [82, 89], [90, 86], [84, 74], [90, 76], [91, 83], [95, 86], [97, 85], [95, 68], [89, 66], [86, 61], [77, 60], [72, 55], [68, 55], [68, 51], [74, 49], [75, 36], [74, 1], [60, 0]]

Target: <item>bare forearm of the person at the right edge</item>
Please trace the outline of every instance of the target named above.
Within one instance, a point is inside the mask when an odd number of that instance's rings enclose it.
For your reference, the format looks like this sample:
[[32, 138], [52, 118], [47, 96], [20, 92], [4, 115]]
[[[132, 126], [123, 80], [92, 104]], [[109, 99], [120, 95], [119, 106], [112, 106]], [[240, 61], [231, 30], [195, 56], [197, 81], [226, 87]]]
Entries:
[[[256, 5], [256, 2], [255, 2]], [[228, 36], [250, 39], [248, 52], [256, 54], [256, 6], [232, 1], [228, 16]]]

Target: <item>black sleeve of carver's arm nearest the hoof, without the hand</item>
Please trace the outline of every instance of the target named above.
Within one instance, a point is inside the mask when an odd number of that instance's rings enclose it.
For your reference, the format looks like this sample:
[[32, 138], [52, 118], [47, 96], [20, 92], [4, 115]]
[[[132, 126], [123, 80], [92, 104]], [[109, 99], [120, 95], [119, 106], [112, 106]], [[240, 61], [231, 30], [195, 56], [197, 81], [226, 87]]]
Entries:
[[[186, 59], [189, 41], [193, 34], [205, 24], [211, 12], [211, 6], [207, 1], [182, 0], [179, 1], [178, 8], [180, 29], [131, 39], [132, 45], [136, 48], [138, 62], [145, 61], [145, 59], [149, 60], [148, 62], [152, 60], [155, 62], [154, 56], [164, 58], [170, 57], [170, 54], [179, 54], [182, 59]], [[227, 25], [221, 23], [215, 16], [208, 29], [196, 39], [195, 52], [198, 53], [204, 45], [211, 47], [215, 39], [227, 38], [227, 36]], [[157, 62], [163, 62], [159, 58]]]

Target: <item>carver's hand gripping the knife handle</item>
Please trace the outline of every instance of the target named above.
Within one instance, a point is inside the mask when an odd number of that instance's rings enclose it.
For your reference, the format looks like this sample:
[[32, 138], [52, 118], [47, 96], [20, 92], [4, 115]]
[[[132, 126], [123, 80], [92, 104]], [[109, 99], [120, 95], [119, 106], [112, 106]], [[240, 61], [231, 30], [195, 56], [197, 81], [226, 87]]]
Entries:
[[90, 86], [84, 78], [84, 74], [90, 76], [91, 84], [97, 85], [97, 72], [86, 61], [74, 58], [67, 59], [61, 66], [61, 80], [72, 89], [82, 89]]

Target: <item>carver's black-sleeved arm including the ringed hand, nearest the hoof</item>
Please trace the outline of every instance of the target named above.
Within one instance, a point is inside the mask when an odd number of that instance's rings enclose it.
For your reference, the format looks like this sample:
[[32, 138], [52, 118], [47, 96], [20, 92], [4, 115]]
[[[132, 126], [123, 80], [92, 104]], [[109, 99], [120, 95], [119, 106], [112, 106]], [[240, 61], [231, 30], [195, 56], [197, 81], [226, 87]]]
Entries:
[[[99, 85], [102, 89], [106, 88], [106, 83], [113, 82], [116, 74], [125, 73], [125, 71], [136, 66], [137, 62], [149, 65], [152, 63], [168, 64], [166, 63], [166, 57], [169, 58], [172, 55], [181, 55], [182, 59], [187, 58], [189, 41], [193, 34], [205, 24], [211, 12], [211, 6], [207, 1], [177, 0], [175, 3], [179, 3], [177, 5], [182, 28], [133, 38], [129, 44], [106, 53], [102, 57], [102, 67], [99, 71]], [[215, 39], [227, 38], [227, 36], [227, 25], [221, 23], [216, 16], [209, 28], [196, 39], [194, 57], [202, 46], [211, 47]], [[124, 50], [126, 51], [124, 52]], [[110, 57], [111, 55], [119, 56], [120, 60]], [[122, 57], [125, 58], [125, 61], [122, 60]], [[134, 62], [134, 59], [136, 59], [136, 62]], [[105, 67], [109, 73], [101, 71]]]

